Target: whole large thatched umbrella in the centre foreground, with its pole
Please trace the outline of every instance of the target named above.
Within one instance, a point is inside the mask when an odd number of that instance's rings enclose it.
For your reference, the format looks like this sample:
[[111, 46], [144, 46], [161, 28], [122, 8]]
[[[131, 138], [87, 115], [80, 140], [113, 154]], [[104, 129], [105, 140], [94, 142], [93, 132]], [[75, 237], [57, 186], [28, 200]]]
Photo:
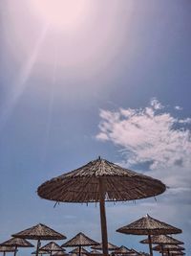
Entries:
[[155, 197], [166, 187], [158, 179], [121, 168], [100, 157], [38, 187], [41, 198], [58, 202], [99, 202], [103, 253], [108, 255], [106, 201]]

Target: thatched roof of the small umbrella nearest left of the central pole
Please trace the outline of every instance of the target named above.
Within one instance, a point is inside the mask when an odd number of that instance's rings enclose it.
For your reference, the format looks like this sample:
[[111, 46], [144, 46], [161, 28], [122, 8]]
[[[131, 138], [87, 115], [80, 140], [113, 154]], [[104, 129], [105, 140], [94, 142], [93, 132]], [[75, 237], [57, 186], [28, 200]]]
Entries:
[[62, 244], [62, 247], [74, 247], [74, 246], [90, 246], [90, 245], [95, 245], [98, 244], [96, 241], [90, 239], [86, 235], [84, 235], [82, 232], [78, 233], [74, 238], [69, 240], [67, 243]]

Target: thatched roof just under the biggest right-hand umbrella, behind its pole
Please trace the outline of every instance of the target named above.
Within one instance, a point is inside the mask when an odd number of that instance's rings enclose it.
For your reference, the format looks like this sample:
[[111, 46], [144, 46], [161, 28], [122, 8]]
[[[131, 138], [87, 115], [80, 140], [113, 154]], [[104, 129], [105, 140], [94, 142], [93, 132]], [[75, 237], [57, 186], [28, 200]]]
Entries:
[[[166, 235], [159, 235], [159, 236], [152, 236], [151, 237], [151, 242], [152, 244], [183, 244], [183, 242], [166, 236]], [[144, 239], [142, 241], [140, 241], [141, 244], [149, 244], [149, 240], [148, 239]]]

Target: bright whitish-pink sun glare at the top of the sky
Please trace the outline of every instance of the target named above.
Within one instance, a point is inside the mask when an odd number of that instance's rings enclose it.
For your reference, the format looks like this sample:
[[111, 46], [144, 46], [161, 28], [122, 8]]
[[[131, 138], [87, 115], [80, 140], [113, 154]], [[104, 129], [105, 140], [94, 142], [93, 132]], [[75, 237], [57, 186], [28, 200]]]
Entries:
[[89, 10], [88, 0], [32, 0], [38, 18], [59, 30], [72, 30], [80, 26]]

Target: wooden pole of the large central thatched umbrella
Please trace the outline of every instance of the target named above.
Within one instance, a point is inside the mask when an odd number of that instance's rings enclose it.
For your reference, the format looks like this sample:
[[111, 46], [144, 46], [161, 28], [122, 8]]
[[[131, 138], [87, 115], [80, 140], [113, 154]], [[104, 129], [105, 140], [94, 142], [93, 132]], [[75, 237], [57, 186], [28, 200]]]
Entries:
[[102, 236], [102, 251], [104, 256], [108, 256], [108, 237], [107, 237], [107, 222], [105, 214], [105, 192], [103, 182], [99, 179], [99, 208], [101, 221], [101, 236]]

